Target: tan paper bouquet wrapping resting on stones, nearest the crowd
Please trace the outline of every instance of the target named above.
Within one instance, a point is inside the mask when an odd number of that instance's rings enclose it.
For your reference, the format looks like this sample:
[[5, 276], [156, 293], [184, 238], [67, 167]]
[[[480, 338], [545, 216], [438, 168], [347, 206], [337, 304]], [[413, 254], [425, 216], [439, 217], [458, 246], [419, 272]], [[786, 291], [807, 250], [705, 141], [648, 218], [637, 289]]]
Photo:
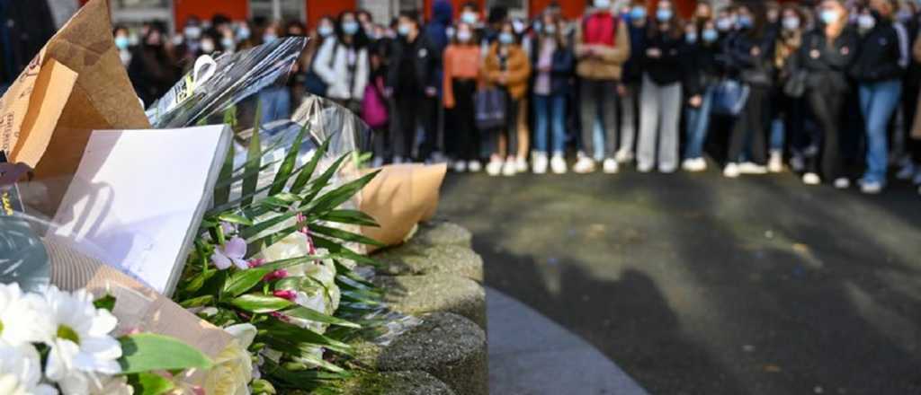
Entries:
[[445, 164], [382, 167], [361, 191], [361, 210], [378, 220], [380, 227], [362, 227], [362, 234], [386, 245], [402, 243], [416, 223], [435, 216], [447, 170]]

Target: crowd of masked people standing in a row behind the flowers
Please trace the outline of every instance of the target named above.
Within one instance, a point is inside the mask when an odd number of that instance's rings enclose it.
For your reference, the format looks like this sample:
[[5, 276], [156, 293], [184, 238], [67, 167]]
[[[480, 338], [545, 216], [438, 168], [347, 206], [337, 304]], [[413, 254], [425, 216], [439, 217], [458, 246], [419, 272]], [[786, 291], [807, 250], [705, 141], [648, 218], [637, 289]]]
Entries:
[[672, 0], [612, 3], [525, 20], [437, 0], [425, 24], [416, 11], [381, 24], [357, 10], [312, 27], [216, 16], [176, 35], [150, 24], [115, 36], [148, 104], [199, 55], [309, 36], [289, 83], [260, 94], [263, 120], [304, 92], [326, 96], [374, 130], [376, 165], [510, 176], [721, 164], [730, 178], [788, 167], [807, 185], [856, 181], [869, 194], [890, 178], [921, 186], [914, 1], [699, 0], [688, 19]]

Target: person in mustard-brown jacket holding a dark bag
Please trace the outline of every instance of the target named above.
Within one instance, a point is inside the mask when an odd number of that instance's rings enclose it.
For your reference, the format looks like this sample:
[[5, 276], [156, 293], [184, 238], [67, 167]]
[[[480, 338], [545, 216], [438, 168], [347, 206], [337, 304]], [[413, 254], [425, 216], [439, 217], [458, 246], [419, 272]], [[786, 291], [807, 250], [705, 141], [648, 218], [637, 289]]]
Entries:
[[[494, 85], [506, 96], [506, 125], [487, 136], [490, 162], [489, 175], [515, 175], [518, 173], [518, 110], [520, 100], [528, 89], [530, 62], [528, 55], [516, 41], [515, 29], [506, 22], [499, 30], [496, 42], [489, 47], [484, 60], [483, 73], [487, 85]], [[500, 136], [506, 136], [506, 154], [499, 149]]]

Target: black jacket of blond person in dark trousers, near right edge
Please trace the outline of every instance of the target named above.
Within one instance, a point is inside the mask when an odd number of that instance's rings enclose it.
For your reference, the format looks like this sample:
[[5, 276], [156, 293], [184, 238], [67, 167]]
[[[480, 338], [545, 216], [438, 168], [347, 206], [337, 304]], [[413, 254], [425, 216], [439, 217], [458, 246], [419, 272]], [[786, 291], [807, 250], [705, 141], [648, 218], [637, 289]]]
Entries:
[[829, 43], [822, 28], [815, 28], [803, 36], [794, 59], [796, 69], [808, 72], [808, 88], [847, 88], [847, 70], [857, 56], [860, 36], [853, 28], [844, 31]]

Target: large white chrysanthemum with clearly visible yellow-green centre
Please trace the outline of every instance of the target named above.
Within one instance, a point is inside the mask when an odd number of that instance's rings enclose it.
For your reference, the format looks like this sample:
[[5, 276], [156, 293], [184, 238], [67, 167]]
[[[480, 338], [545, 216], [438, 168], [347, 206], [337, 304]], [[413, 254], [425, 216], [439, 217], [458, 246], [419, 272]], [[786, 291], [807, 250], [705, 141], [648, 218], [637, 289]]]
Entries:
[[52, 286], [44, 296], [55, 331], [45, 375], [64, 395], [86, 394], [100, 378], [121, 372], [122, 345], [110, 335], [118, 320], [111, 312], [93, 306], [85, 289], [70, 294]]

